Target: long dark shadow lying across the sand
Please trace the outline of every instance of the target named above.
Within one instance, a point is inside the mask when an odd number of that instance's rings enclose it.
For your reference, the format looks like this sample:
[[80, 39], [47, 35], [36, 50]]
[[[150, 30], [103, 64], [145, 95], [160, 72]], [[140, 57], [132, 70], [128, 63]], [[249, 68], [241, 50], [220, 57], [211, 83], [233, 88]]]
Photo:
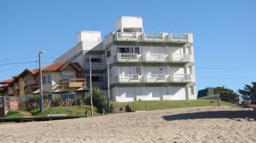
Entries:
[[214, 112], [191, 112], [163, 117], [166, 121], [187, 120], [187, 119], [206, 119], [206, 118], [243, 118], [250, 121], [256, 120], [256, 112], [253, 111], [214, 111]]

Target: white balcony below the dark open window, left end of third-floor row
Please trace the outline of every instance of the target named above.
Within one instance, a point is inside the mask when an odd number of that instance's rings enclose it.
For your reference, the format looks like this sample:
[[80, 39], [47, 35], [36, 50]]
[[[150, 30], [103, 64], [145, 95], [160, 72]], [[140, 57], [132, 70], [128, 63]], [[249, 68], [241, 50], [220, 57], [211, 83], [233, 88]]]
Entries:
[[138, 62], [141, 58], [141, 54], [118, 53], [115, 55], [115, 60], [118, 62]]

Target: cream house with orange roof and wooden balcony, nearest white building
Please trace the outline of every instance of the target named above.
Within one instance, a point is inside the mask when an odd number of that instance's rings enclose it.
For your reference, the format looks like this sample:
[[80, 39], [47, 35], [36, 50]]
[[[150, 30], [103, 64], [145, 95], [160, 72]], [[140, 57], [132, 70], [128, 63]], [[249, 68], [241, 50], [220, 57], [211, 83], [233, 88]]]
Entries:
[[42, 71], [43, 87], [44, 91], [49, 93], [48, 98], [51, 98], [52, 94], [61, 94], [62, 99], [73, 99], [76, 96], [75, 90], [85, 86], [82, 67], [79, 63], [54, 62], [44, 67]]

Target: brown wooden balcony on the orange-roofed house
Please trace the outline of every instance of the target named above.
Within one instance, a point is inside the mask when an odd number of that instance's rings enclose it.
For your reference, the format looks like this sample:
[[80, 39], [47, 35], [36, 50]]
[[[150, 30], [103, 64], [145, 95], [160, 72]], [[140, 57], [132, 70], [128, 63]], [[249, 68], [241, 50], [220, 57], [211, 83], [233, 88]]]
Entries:
[[85, 79], [84, 78], [68, 78], [61, 80], [61, 86], [63, 88], [82, 88], [84, 87]]

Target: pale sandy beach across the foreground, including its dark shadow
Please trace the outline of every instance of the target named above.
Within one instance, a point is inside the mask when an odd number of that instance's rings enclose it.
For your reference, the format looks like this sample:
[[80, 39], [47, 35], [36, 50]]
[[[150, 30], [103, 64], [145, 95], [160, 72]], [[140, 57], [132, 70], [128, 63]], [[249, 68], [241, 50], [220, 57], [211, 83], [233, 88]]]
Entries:
[[0, 124], [0, 142], [256, 142], [256, 112], [193, 107]]

